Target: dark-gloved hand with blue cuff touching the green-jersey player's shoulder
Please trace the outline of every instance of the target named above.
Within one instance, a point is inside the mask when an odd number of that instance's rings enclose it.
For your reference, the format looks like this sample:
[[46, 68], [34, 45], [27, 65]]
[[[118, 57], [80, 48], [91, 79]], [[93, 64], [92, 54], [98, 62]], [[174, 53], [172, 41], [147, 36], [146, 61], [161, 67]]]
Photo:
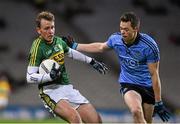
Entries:
[[73, 39], [72, 36], [69, 36], [69, 35], [68, 35], [67, 37], [63, 36], [63, 37], [62, 37], [62, 40], [65, 41], [66, 44], [67, 44], [70, 48], [76, 50], [76, 48], [77, 48], [77, 46], [78, 46], [78, 43], [76, 43], [76, 42], [74, 41], [74, 39]]

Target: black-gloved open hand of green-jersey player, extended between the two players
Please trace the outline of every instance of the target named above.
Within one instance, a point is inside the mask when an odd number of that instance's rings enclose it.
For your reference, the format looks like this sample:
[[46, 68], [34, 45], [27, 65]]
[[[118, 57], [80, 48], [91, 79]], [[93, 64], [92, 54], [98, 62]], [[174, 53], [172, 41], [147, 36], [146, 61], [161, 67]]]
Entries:
[[95, 59], [92, 59], [90, 64], [93, 66], [94, 69], [99, 71], [99, 73], [101, 73], [101, 74], [106, 74], [106, 72], [108, 70], [107, 66], [104, 63], [98, 62]]

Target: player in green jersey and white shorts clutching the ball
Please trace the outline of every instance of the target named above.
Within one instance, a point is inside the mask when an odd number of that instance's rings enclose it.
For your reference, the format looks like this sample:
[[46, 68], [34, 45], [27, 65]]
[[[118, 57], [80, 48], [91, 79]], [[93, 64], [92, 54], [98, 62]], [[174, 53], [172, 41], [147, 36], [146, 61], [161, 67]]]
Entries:
[[[55, 18], [52, 13], [39, 13], [36, 24], [39, 37], [34, 40], [30, 50], [27, 82], [38, 84], [45, 107], [54, 115], [69, 123], [101, 123], [101, 117], [92, 104], [70, 84], [64, 56], [86, 62], [102, 74], [107, 71], [106, 65], [69, 48], [62, 38], [55, 36]], [[38, 73], [39, 65], [45, 59], [55, 60], [61, 68], [53, 66], [48, 74]]]

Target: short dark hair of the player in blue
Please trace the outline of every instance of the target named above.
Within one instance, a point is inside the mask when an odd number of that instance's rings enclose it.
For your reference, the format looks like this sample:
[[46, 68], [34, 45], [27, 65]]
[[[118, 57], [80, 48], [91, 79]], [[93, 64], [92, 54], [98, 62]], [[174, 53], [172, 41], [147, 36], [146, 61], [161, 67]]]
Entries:
[[133, 28], [140, 26], [140, 19], [136, 16], [134, 12], [126, 12], [120, 17], [122, 22], [131, 22]]

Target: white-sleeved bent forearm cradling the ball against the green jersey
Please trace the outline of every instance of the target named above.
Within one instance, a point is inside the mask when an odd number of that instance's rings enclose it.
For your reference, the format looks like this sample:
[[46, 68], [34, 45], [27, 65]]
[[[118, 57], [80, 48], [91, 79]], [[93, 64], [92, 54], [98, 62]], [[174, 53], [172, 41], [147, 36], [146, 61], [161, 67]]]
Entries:
[[38, 67], [28, 66], [26, 80], [28, 83], [45, 83], [52, 81], [49, 74], [37, 73]]

